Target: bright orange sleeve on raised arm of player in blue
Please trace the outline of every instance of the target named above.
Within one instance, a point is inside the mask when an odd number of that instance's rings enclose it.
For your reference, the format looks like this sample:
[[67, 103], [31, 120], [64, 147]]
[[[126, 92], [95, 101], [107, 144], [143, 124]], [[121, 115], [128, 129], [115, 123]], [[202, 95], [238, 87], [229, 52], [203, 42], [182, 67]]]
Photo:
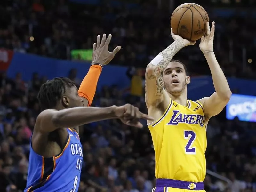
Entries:
[[92, 104], [101, 71], [100, 65], [92, 65], [79, 87], [78, 95], [88, 100], [88, 106]]

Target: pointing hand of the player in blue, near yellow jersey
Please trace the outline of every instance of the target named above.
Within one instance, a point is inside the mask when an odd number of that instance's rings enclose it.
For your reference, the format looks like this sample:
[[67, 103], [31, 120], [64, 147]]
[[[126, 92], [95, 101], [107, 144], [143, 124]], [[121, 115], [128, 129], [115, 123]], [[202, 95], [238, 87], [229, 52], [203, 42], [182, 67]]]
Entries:
[[138, 128], [143, 127], [139, 121], [140, 119], [154, 120], [152, 117], [140, 112], [139, 108], [130, 104], [116, 107], [115, 114], [124, 124]]

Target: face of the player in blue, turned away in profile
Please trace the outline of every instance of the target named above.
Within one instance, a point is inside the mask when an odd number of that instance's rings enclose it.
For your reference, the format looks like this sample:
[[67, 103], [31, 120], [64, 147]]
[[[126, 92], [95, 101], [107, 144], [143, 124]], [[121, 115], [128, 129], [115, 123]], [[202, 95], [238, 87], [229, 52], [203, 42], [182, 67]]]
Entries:
[[66, 92], [62, 100], [65, 105], [67, 105], [66, 108], [83, 106], [83, 99], [78, 96], [77, 88], [75, 86], [68, 89], [66, 88]]

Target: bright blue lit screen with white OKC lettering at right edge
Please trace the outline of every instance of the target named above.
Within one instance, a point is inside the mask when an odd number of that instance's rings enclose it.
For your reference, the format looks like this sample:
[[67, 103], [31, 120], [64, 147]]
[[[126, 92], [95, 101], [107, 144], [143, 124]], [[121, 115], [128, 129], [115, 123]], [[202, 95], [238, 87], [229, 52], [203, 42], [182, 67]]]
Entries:
[[256, 122], [256, 96], [232, 94], [226, 107], [226, 118]]

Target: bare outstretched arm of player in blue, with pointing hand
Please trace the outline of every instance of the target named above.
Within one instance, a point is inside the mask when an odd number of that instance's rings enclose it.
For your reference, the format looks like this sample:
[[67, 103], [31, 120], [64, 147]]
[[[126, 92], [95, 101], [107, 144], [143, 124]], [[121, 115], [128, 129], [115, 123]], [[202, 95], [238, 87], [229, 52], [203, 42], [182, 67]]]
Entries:
[[139, 119], [152, 120], [138, 108], [126, 104], [124, 106], [98, 107], [74, 107], [57, 111], [47, 109], [41, 112], [35, 124], [35, 130], [39, 132], [52, 132], [58, 128], [78, 127], [91, 122], [119, 118], [124, 124], [142, 127]]

